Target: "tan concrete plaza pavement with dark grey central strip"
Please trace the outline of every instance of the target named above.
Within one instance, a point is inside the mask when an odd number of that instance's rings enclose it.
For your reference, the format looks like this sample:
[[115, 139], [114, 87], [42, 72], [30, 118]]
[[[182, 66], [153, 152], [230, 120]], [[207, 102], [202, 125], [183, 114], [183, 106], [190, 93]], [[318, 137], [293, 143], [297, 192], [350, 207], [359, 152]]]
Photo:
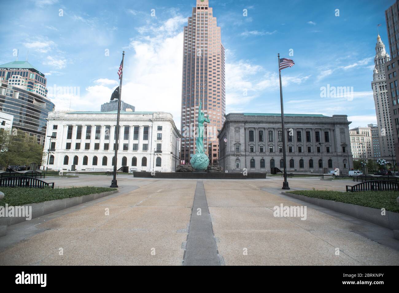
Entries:
[[[45, 181], [108, 187], [111, 179]], [[383, 227], [310, 204], [305, 221], [274, 217], [274, 206], [299, 205], [281, 194], [280, 177], [117, 179], [118, 193], [8, 227], [0, 238], [0, 265], [399, 265], [399, 249], [362, 236], [389, 238]], [[288, 181], [292, 189], [344, 191], [353, 184]]]

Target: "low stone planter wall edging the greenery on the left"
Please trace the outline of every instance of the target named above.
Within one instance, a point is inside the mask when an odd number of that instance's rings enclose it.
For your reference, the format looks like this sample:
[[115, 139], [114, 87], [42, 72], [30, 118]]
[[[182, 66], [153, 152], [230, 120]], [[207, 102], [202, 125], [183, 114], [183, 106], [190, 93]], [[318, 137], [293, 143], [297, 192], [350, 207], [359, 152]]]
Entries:
[[[67, 197], [63, 199], [55, 199], [50, 201], [43, 201], [41, 203], [29, 203], [24, 206], [32, 207], [32, 219], [37, 217], [42, 217], [47, 214], [54, 213], [56, 211], [61, 211], [63, 209], [67, 209], [69, 207], [73, 207], [75, 205], [80, 205], [81, 203], [86, 203], [88, 201], [92, 201], [94, 199], [98, 199], [107, 195], [111, 195], [118, 190], [106, 191], [101, 193], [93, 193], [83, 196], [75, 196], [75, 197]], [[0, 236], [1, 235], [1, 227], [10, 226], [14, 224], [18, 224], [26, 221], [26, 217], [0, 217]]]

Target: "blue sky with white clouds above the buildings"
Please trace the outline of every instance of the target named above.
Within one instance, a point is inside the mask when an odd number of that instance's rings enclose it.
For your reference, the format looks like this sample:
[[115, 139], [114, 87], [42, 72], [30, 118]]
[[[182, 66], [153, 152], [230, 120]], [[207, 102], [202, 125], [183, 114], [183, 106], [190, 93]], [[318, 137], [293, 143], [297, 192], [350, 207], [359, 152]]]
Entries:
[[[226, 50], [226, 113], [348, 115], [350, 128], [377, 123], [371, 81], [385, 10], [394, 0], [209, 0]], [[180, 129], [183, 28], [195, 0], [1, 1], [0, 64], [28, 61], [45, 74], [55, 110], [100, 111], [119, 85], [136, 111], [165, 111]], [[337, 11], [338, 9], [338, 11]], [[244, 10], [247, 16], [244, 16]], [[338, 13], [337, 13], [338, 12]], [[339, 15], [338, 15], [339, 14]], [[348, 87], [351, 95], [323, 95]]]

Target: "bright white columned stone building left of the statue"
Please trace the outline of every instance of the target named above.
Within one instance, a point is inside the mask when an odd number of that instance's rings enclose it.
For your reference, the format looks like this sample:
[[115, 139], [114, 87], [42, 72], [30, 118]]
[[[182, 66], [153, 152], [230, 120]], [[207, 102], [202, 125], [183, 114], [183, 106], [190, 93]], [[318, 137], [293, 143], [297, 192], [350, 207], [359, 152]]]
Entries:
[[[45, 156], [52, 170], [113, 171], [117, 112], [49, 113]], [[170, 113], [121, 111], [117, 168], [174, 172], [180, 133]], [[47, 162], [44, 168], [47, 167]]]

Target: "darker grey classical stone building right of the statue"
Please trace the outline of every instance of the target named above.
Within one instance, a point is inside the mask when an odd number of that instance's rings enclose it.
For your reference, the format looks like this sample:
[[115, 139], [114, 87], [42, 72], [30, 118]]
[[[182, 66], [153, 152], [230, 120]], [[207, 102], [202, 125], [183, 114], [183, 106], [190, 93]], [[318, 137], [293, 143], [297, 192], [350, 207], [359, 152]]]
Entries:
[[[282, 134], [286, 136], [287, 172], [326, 173], [353, 166], [346, 115], [229, 113], [219, 132], [219, 165], [228, 172], [281, 171]], [[227, 140], [227, 143], [225, 142]]]

